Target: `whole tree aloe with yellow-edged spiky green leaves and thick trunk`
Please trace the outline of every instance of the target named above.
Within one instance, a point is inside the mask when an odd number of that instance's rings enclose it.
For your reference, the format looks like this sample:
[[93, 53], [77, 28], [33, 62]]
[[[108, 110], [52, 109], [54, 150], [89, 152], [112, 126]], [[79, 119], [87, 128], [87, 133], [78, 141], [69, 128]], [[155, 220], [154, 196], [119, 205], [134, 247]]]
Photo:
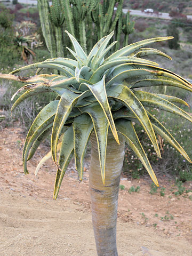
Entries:
[[[139, 157], [158, 186], [134, 124], [138, 123], [143, 127], [158, 157], [161, 157], [161, 152], [156, 135], [160, 146], [162, 138], [167, 140], [191, 163], [186, 151], [149, 110], [162, 109], [192, 122], [192, 117], [177, 106], [178, 103], [188, 106], [187, 102], [171, 95], [149, 93], [142, 89], [164, 85], [192, 92], [192, 85], [179, 75], [159, 68], [157, 63], [141, 58], [158, 54], [171, 59], [165, 53], [146, 46], [172, 37], [157, 37], [133, 43], [106, 58], [116, 43], [108, 46], [113, 32], [101, 38], [89, 55], [85, 54], [71, 34], [67, 31], [66, 33], [75, 49], [68, 49], [74, 59], [47, 59], [14, 70], [8, 75], [1, 74], [0, 77], [26, 83], [13, 95], [14, 98], [25, 90], [14, 102], [12, 110], [20, 102], [37, 93], [55, 93], [55, 100], [39, 112], [31, 125], [22, 156], [24, 172], [28, 173], [27, 161], [51, 133], [51, 151], [38, 164], [35, 173], [37, 174], [39, 167], [52, 156], [57, 165], [54, 199], [58, 196], [62, 179], [73, 155], [79, 180], [83, 179], [83, 159], [87, 142], [91, 138], [89, 182], [97, 252], [99, 256], [117, 256], [117, 199], [124, 159], [124, 142]], [[45, 68], [59, 70], [60, 75], [40, 74]], [[36, 75], [13, 75], [27, 69], [37, 69]]]

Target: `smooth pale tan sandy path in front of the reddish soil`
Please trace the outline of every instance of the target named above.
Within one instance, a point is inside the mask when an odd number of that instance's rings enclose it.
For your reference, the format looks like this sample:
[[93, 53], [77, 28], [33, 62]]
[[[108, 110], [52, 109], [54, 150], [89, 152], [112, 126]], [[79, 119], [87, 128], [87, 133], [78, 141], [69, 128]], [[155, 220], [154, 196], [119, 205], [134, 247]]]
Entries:
[[[82, 205], [70, 199], [37, 200], [13, 191], [1, 191], [0, 199], [0, 255], [96, 256], [91, 214]], [[167, 238], [132, 222], [118, 221], [117, 234], [119, 256], [145, 255], [141, 246], [156, 251], [146, 255], [191, 255], [185, 239]]]

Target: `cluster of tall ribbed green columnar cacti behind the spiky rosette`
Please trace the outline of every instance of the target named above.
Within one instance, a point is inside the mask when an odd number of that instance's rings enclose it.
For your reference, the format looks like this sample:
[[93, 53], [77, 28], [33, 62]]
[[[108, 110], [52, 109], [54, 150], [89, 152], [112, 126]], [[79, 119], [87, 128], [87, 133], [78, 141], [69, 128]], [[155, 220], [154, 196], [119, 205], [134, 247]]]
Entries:
[[[89, 52], [103, 36], [115, 30], [114, 39], [119, 42], [124, 33], [124, 46], [128, 35], [133, 32], [134, 22], [130, 22], [129, 13], [123, 17], [124, 0], [53, 0], [49, 6], [47, 0], [38, 0], [39, 17], [43, 36], [51, 57], [63, 57], [70, 45], [64, 30], [67, 29]], [[116, 44], [115, 50], [119, 48]]]

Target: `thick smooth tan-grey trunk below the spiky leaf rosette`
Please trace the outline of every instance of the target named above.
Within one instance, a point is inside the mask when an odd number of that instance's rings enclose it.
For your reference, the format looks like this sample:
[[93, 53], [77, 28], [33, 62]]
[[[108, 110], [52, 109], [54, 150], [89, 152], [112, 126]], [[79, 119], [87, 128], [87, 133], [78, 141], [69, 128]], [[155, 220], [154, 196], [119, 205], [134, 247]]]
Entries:
[[98, 256], [118, 256], [116, 222], [119, 182], [124, 159], [124, 141], [118, 145], [109, 132], [106, 154], [106, 179], [102, 183], [98, 145], [95, 133], [91, 134], [90, 194], [92, 222]]

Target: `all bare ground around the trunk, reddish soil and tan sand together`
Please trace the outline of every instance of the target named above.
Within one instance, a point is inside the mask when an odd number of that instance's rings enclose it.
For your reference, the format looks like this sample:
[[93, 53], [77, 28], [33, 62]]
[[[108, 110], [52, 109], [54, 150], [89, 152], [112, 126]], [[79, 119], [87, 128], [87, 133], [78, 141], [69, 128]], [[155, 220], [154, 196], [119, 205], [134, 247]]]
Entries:
[[[95, 255], [88, 192], [89, 159], [85, 180], [77, 180], [73, 162], [53, 201], [55, 166], [47, 163], [37, 179], [33, 172], [47, 148], [42, 146], [22, 171], [25, 140], [19, 127], [0, 132], [0, 256]], [[149, 179], [127, 180], [119, 192], [117, 241], [119, 256], [191, 256], [192, 201], [174, 196], [173, 181], [159, 180], [165, 188], [151, 195]], [[140, 186], [138, 193], [130, 187]], [[188, 182], [187, 188], [191, 188]], [[172, 191], [173, 190], [173, 191]], [[166, 218], [165, 218], [166, 217]]]

